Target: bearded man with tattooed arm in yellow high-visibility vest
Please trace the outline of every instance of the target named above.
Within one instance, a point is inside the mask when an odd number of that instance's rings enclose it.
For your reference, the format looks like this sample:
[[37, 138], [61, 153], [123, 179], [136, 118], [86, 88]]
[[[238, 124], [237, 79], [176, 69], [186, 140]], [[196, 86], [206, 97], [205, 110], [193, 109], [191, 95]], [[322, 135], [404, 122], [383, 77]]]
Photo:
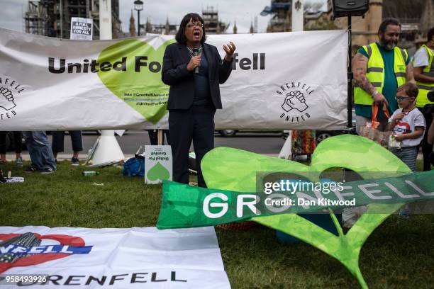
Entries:
[[[386, 103], [391, 115], [398, 109], [396, 89], [407, 81], [414, 82], [410, 57], [406, 50], [397, 46], [400, 33], [401, 24], [397, 19], [384, 19], [378, 28], [379, 40], [360, 47], [352, 59], [357, 133], [362, 125], [372, 120], [372, 103], [381, 108]], [[382, 109], [377, 120], [379, 130], [386, 130], [388, 119]]]

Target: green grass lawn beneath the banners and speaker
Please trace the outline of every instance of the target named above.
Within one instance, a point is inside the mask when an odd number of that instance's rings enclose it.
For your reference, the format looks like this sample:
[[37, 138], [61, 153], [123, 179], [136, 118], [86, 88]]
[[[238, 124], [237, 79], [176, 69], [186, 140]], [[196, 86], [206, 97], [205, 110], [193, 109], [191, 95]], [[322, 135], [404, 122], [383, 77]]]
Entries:
[[[418, 164], [420, 168], [420, 164]], [[115, 167], [82, 176], [84, 167], [60, 162], [54, 174], [25, 174], [24, 183], [0, 184], [0, 225], [48, 227], [149, 227], [160, 210], [161, 186], [121, 175]], [[96, 186], [94, 183], [104, 183]], [[389, 217], [362, 249], [360, 268], [369, 288], [433, 288], [434, 216]], [[233, 288], [358, 288], [338, 261], [306, 244], [279, 244], [274, 230], [216, 229]]]

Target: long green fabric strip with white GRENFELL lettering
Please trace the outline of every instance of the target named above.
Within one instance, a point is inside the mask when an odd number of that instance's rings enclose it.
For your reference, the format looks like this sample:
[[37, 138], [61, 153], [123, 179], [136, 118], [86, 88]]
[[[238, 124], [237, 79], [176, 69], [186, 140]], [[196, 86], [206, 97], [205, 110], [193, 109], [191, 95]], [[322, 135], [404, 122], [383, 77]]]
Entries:
[[[253, 193], [213, 190], [165, 181], [157, 227], [213, 226], [252, 217], [321, 213], [321, 210], [328, 208], [411, 203], [434, 198], [433, 177], [434, 171], [424, 171], [347, 183], [280, 180], [272, 183], [273, 186], [262, 183], [259, 187], [263, 191]], [[335, 185], [333, 188], [332, 184]], [[377, 213], [383, 213], [381, 207]]]

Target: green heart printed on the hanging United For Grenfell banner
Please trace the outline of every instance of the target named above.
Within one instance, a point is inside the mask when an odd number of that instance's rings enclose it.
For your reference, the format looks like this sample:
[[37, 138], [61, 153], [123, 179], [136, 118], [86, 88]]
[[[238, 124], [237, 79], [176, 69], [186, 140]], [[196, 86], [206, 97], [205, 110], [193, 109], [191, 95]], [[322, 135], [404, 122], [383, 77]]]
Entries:
[[168, 40], [155, 50], [140, 40], [123, 40], [98, 57], [98, 77], [103, 84], [154, 125], [167, 113], [169, 86], [161, 81], [162, 58], [167, 45], [174, 41]]

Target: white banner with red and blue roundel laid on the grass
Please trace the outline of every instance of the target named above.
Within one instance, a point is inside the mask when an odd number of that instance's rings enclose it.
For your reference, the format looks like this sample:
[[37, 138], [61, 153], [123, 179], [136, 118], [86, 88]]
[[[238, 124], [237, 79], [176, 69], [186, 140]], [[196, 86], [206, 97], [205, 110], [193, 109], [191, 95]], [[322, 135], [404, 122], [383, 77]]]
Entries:
[[213, 227], [0, 227], [0, 241], [4, 289], [230, 288]]

